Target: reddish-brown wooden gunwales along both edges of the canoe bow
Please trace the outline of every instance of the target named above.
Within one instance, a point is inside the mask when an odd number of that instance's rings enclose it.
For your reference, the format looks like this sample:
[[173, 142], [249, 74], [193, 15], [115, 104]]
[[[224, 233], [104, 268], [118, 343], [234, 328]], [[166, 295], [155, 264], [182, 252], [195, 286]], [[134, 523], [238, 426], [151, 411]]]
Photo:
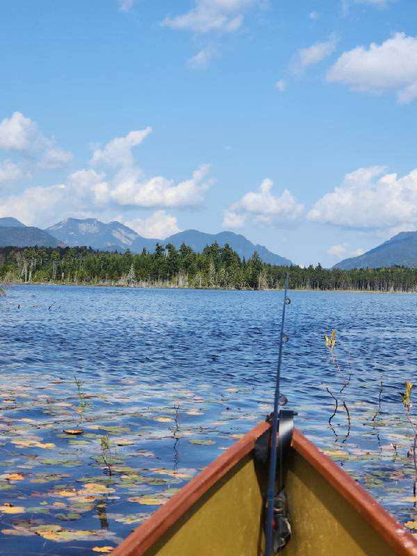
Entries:
[[[269, 427], [266, 422], [256, 425], [126, 537], [111, 556], [144, 554], [213, 484], [253, 450], [256, 440]], [[414, 537], [350, 475], [297, 430], [294, 430], [292, 447], [357, 510], [398, 556], [417, 555]]]

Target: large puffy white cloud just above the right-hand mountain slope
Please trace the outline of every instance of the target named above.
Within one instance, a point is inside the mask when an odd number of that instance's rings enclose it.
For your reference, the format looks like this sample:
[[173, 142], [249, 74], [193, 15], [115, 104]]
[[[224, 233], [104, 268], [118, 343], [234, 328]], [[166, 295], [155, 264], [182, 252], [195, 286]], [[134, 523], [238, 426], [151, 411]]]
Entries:
[[384, 235], [416, 229], [417, 169], [398, 177], [387, 174], [383, 166], [359, 168], [319, 199], [308, 218], [352, 229], [375, 229]]

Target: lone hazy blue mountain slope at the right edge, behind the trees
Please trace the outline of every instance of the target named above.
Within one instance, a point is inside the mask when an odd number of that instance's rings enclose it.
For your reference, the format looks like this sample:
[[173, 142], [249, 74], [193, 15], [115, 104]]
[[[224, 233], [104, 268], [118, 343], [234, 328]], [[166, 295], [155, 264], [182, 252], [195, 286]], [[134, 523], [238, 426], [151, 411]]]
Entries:
[[378, 245], [374, 249], [344, 259], [333, 268], [382, 268], [400, 265], [409, 268], [417, 267], [417, 231], [402, 231], [400, 234]]

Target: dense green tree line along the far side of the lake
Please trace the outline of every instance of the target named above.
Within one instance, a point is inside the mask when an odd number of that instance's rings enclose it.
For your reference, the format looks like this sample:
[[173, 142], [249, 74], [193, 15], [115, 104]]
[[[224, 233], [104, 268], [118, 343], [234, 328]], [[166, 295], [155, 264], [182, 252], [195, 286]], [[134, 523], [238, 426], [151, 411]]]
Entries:
[[0, 281], [55, 282], [102, 286], [183, 287], [238, 290], [278, 289], [286, 273], [300, 290], [417, 292], [417, 269], [392, 266], [354, 270], [320, 264], [284, 267], [261, 261], [254, 252], [241, 258], [230, 245], [207, 245], [199, 253], [181, 245], [156, 245], [154, 252], [133, 254], [88, 247], [1, 247]]

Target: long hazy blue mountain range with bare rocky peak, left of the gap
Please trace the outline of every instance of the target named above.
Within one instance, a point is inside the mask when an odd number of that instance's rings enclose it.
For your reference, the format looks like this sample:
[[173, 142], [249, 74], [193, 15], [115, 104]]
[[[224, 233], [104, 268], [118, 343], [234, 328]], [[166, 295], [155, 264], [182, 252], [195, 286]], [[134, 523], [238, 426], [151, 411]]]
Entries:
[[44, 247], [57, 247], [58, 245], [85, 245], [93, 249], [124, 252], [126, 249], [133, 253], [141, 253], [145, 248], [154, 251], [156, 244], [167, 245], [172, 243], [181, 247], [182, 243], [189, 245], [193, 250], [201, 252], [206, 245], [217, 241], [220, 247], [229, 243], [240, 257], [249, 259], [257, 252], [265, 263], [289, 266], [291, 261], [272, 253], [263, 245], [254, 245], [250, 240], [232, 231], [222, 231], [220, 234], [204, 234], [202, 231], [180, 231], [165, 239], [143, 238], [133, 229], [120, 222], [105, 224], [95, 218], [67, 218], [54, 224], [46, 230], [35, 227], [26, 227], [15, 218], [0, 218], [0, 247], [14, 245], [26, 247], [39, 245]]

